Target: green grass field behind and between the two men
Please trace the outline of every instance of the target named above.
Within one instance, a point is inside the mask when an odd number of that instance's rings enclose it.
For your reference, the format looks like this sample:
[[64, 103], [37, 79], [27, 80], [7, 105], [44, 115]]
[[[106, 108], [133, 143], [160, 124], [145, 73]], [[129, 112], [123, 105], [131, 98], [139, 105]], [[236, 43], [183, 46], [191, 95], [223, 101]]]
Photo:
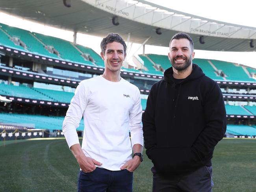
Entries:
[[[213, 192], [256, 191], [255, 139], [223, 139], [213, 156]], [[134, 192], [152, 191], [151, 166], [145, 155], [134, 172]], [[1, 192], [76, 191], [78, 171], [64, 139], [0, 142]]]

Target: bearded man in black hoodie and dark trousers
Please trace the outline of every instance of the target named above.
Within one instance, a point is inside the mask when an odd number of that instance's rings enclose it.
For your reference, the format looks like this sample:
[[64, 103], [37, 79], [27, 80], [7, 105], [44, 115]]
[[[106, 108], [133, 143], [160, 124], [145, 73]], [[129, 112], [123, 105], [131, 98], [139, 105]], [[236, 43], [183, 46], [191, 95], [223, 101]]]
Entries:
[[146, 154], [154, 166], [153, 192], [211, 192], [211, 158], [226, 132], [219, 85], [192, 63], [194, 44], [175, 34], [171, 68], [155, 83], [143, 114]]

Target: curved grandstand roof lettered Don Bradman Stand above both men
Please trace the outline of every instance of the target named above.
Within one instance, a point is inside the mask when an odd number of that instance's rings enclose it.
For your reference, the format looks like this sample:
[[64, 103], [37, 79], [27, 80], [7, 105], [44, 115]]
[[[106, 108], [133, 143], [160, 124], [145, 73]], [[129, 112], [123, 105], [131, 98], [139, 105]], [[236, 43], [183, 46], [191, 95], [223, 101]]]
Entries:
[[[256, 51], [256, 28], [202, 18], [144, 0], [1, 0], [0, 10], [99, 37], [118, 32], [127, 40], [130, 33], [130, 41], [139, 44], [150, 37], [146, 44], [169, 46], [170, 38], [183, 31], [191, 35], [198, 50]], [[117, 26], [112, 24], [114, 16], [118, 16]], [[161, 35], [156, 34], [157, 28]]]

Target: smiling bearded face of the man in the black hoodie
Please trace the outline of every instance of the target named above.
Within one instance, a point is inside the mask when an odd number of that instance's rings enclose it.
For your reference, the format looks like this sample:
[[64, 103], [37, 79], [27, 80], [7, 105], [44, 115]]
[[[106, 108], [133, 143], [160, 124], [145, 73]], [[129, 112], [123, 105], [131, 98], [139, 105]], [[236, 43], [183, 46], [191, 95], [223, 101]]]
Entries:
[[188, 39], [173, 39], [168, 54], [171, 65], [177, 71], [186, 70], [192, 65], [195, 52], [193, 52]]

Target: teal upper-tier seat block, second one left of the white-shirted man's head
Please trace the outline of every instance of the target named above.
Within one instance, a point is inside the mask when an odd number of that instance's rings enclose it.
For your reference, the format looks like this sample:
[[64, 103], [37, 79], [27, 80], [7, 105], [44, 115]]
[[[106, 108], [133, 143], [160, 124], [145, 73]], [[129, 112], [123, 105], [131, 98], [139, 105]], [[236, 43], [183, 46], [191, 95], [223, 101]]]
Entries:
[[53, 46], [56, 49], [62, 59], [78, 62], [86, 65], [93, 65], [91, 61], [86, 61], [80, 54], [80, 52], [69, 42], [56, 37], [46, 36], [33, 32], [38, 39], [40, 39], [47, 46]]

